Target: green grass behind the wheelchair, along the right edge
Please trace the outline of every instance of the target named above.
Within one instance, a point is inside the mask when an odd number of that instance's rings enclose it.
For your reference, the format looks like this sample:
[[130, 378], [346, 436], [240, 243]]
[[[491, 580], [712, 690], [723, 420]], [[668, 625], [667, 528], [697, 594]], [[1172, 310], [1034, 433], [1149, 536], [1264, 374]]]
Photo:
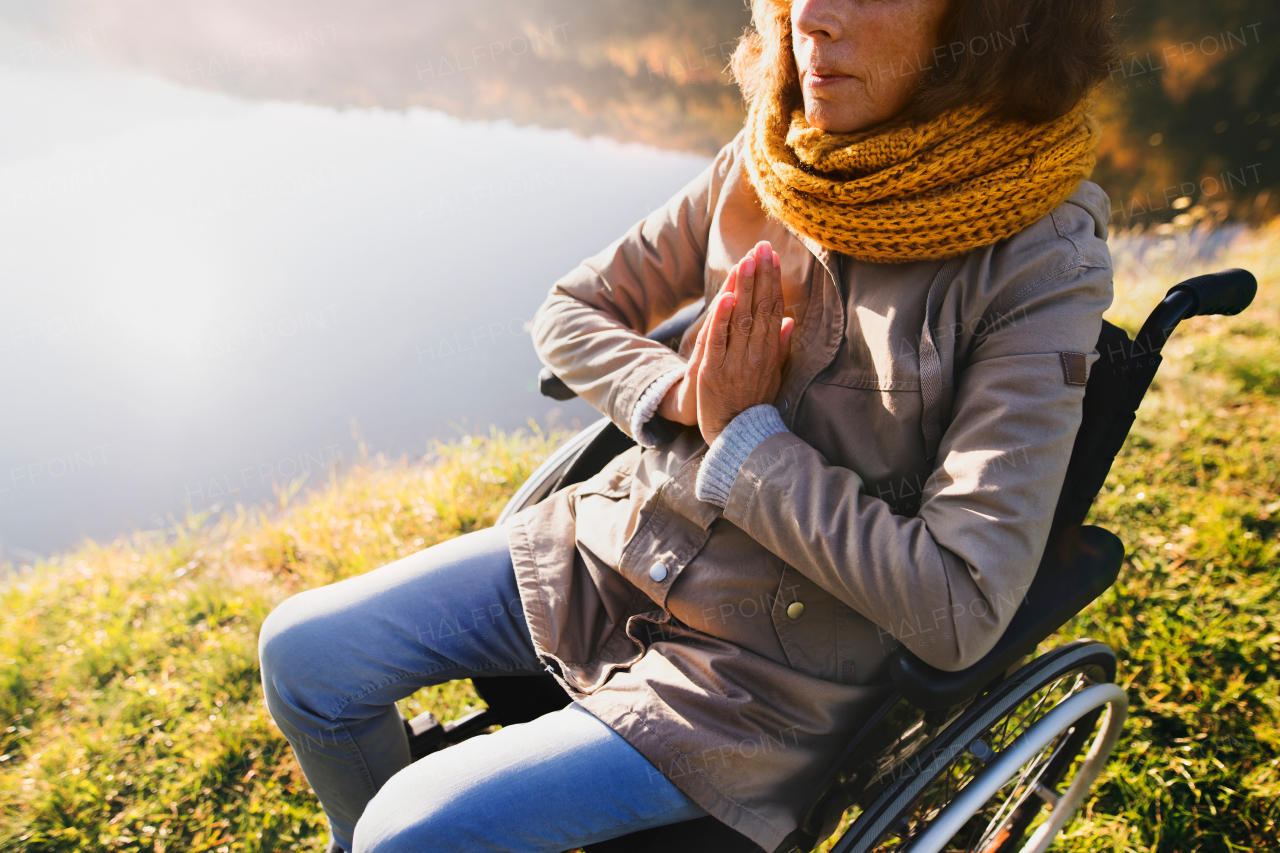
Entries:
[[1260, 292], [1170, 341], [1094, 505], [1129, 557], [1061, 637], [1120, 652], [1132, 704], [1064, 850], [1280, 849], [1280, 222], [1226, 263], [1202, 255], [1207, 237], [1112, 245], [1111, 316], [1130, 333], [1202, 269], [1243, 266]]

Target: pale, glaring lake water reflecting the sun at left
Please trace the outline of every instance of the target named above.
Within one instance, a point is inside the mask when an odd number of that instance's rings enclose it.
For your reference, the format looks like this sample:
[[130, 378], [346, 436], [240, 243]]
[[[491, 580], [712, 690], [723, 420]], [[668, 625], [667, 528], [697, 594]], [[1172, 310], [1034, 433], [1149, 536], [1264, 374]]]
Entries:
[[701, 156], [430, 111], [0, 69], [0, 561], [495, 424], [527, 321]]

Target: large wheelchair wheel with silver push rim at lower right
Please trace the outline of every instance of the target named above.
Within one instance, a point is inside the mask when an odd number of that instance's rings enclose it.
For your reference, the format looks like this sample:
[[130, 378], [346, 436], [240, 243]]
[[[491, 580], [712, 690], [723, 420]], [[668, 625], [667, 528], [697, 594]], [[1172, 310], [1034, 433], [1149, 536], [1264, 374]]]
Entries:
[[1096, 642], [1027, 663], [881, 780], [832, 853], [1047, 849], [1120, 736], [1128, 698], [1114, 678]]

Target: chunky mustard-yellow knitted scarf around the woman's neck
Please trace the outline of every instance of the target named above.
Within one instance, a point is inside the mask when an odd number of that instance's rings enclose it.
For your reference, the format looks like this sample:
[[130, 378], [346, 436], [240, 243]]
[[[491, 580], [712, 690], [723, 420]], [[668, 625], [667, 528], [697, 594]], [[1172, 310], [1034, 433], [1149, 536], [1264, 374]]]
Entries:
[[1093, 172], [1098, 127], [1082, 101], [1044, 124], [977, 106], [859, 133], [783, 119], [762, 96], [748, 115], [748, 175], [792, 231], [859, 260], [954, 257], [1018, 233]]

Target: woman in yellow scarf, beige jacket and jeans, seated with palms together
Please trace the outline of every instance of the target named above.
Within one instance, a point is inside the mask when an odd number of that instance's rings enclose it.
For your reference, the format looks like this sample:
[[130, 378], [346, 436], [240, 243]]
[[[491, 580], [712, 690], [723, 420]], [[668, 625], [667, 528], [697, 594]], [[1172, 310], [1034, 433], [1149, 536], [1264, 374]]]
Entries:
[[[708, 813], [777, 849], [890, 652], [965, 667], [1030, 584], [1111, 302], [1085, 181], [1107, 0], [753, 14], [746, 127], [534, 324], [639, 446], [264, 625], [334, 849], [552, 852]], [[643, 337], [699, 297], [678, 352]], [[564, 710], [410, 763], [397, 699], [543, 670]]]

